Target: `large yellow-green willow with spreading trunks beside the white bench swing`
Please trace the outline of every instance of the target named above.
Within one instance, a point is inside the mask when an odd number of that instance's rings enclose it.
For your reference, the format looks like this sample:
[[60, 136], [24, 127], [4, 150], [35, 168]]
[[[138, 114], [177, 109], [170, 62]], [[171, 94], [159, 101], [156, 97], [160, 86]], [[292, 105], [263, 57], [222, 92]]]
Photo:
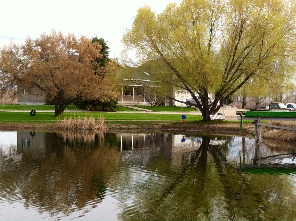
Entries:
[[[151, 78], [159, 88], [187, 90], [208, 121], [222, 106], [218, 100], [227, 100], [254, 76], [278, 75], [278, 67], [290, 73], [295, 10], [294, 1], [279, 0], [184, 0], [161, 14], [145, 6], [123, 43], [137, 51], [139, 61], [158, 61]], [[209, 92], [215, 99], [210, 105]]]

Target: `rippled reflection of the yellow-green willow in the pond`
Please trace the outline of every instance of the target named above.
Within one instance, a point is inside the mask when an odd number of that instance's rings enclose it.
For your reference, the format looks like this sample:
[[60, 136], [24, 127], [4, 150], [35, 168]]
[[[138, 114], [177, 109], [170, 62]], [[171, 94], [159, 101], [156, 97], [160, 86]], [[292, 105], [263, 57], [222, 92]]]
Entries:
[[133, 204], [121, 202], [124, 212], [120, 219], [295, 220], [295, 187], [288, 175], [239, 172], [226, 159], [229, 142], [223, 146], [209, 143], [210, 138], [202, 137], [198, 150], [184, 154], [178, 173], [158, 174], [157, 179], [135, 188]]

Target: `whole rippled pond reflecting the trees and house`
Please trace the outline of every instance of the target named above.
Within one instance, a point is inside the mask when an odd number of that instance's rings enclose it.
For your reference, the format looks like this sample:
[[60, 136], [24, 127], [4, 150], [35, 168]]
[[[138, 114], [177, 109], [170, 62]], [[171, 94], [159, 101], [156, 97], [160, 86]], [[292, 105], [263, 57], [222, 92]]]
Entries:
[[0, 220], [296, 220], [294, 143], [0, 132]]

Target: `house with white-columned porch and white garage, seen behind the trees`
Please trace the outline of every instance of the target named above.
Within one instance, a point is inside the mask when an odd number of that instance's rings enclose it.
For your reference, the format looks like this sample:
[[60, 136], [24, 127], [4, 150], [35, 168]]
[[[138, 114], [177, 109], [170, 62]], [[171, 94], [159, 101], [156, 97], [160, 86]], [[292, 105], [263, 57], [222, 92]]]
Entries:
[[[157, 65], [155, 65], [155, 63]], [[159, 70], [157, 67], [159, 66]], [[152, 71], [153, 70], [153, 71]], [[143, 105], [149, 106], [147, 99], [151, 97], [159, 97], [155, 94], [153, 87], [158, 87], [155, 80], [151, 78], [151, 73], [155, 71], [163, 71], [163, 67], [157, 61], [150, 60], [139, 67], [125, 67], [123, 68], [122, 83], [119, 85], [121, 88], [121, 98], [118, 100], [118, 104], [122, 106], [128, 105]], [[176, 98], [181, 101], [191, 98], [188, 91], [172, 90], [169, 92], [170, 97]], [[30, 92], [27, 88], [22, 89], [18, 93], [18, 104], [33, 104], [42, 105], [48, 104], [46, 97], [42, 95], [42, 92], [36, 88]], [[180, 106], [185, 107], [183, 104], [173, 99], [165, 99], [165, 106]]]

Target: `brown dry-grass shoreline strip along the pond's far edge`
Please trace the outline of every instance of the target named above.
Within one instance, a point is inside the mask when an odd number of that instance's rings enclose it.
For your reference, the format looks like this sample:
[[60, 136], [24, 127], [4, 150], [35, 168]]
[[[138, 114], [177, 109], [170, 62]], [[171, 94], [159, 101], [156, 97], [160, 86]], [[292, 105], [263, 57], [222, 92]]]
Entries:
[[[107, 124], [107, 132], [150, 133], [170, 132], [178, 134], [210, 134], [220, 136], [243, 136], [254, 138], [255, 126], [244, 124], [242, 131], [239, 130], [239, 122], [197, 124], [197, 123], [155, 123], [155, 124]], [[28, 131], [59, 131], [56, 124], [0, 124], [2, 131], [28, 130]], [[294, 131], [271, 129], [262, 127], [262, 138], [296, 142]]]

